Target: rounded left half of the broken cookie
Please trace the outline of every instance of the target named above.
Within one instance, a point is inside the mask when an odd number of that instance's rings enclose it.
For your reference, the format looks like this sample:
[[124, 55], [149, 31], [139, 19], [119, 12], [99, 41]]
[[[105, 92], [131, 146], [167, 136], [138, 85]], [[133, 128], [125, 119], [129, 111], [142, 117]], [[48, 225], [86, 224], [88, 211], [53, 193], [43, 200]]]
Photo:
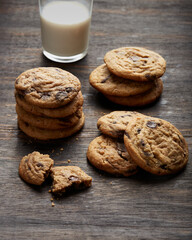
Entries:
[[32, 152], [21, 159], [19, 175], [27, 183], [41, 185], [48, 177], [54, 161], [48, 154]]

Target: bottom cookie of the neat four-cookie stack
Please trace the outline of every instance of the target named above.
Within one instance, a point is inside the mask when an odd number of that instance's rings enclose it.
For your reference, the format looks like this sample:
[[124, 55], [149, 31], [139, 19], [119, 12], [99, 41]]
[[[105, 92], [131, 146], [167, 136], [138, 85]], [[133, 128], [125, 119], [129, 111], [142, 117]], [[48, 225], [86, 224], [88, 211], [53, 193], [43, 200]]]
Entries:
[[69, 137], [76, 132], [78, 132], [84, 125], [85, 116], [82, 114], [79, 122], [68, 128], [58, 129], [58, 130], [49, 130], [49, 129], [42, 129], [37, 128], [34, 126], [29, 125], [28, 123], [21, 120], [18, 116], [18, 126], [19, 128], [28, 136], [32, 138], [36, 138], [39, 140], [51, 140], [51, 139], [59, 139]]

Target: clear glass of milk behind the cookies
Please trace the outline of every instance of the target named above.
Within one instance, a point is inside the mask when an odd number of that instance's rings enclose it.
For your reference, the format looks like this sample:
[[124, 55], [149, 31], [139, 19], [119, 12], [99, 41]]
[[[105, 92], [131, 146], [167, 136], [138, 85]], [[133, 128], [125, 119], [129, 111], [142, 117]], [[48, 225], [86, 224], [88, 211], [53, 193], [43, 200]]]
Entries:
[[75, 62], [88, 50], [93, 0], [39, 0], [43, 54]]

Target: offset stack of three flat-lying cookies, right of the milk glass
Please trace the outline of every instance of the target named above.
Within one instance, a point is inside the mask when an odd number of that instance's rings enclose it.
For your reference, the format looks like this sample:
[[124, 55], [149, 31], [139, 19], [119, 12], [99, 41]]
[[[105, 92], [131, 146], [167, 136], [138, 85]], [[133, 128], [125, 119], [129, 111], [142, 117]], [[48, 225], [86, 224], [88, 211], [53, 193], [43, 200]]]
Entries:
[[145, 48], [122, 47], [106, 53], [104, 61], [90, 74], [89, 81], [110, 101], [133, 107], [160, 97], [160, 77], [166, 61], [159, 54]]

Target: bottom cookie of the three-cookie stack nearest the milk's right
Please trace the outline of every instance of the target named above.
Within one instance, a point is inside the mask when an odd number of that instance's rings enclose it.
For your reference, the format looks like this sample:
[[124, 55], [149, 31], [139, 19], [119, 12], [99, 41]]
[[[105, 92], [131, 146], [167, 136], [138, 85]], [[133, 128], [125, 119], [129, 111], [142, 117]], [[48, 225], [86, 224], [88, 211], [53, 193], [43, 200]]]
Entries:
[[163, 82], [159, 78], [155, 80], [154, 87], [145, 92], [141, 93], [135, 96], [129, 96], [129, 97], [114, 97], [111, 95], [105, 95], [106, 98], [108, 98], [110, 101], [124, 105], [129, 107], [136, 107], [136, 106], [145, 106], [147, 104], [155, 102], [163, 92]]

